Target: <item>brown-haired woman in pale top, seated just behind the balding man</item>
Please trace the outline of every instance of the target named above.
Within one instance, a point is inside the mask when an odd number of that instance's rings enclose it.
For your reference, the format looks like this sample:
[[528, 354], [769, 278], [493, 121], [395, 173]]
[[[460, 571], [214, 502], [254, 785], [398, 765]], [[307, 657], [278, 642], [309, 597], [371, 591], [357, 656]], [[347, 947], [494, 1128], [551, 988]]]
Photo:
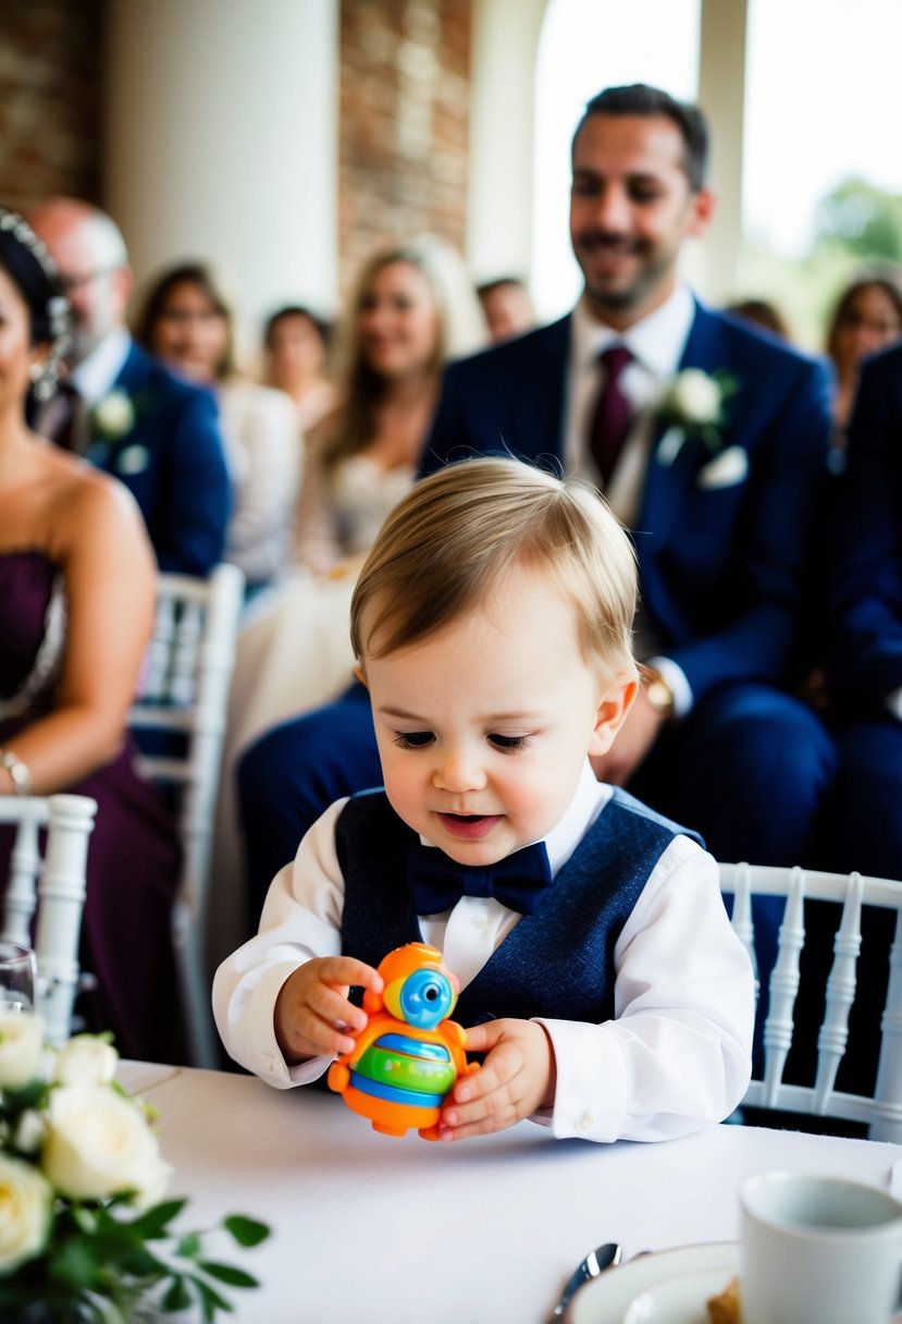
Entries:
[[135, 338], [220, 406], [233, 511], [225, 560], [243, 571], [249, 596], [282, 579], [291, 555], [300, 473], [300, 432], [279, 391], [242, 379], [234, 320], [213, 271], [171, 267], [145, 294]]

